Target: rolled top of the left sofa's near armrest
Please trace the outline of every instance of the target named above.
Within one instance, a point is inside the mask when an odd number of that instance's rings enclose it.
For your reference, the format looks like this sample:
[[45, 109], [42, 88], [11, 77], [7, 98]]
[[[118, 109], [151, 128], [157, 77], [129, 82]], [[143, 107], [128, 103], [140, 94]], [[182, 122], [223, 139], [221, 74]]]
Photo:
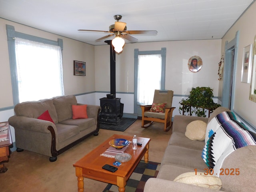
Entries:
[[50, 121], [41, 120], [41, 119], [14, 115], [9, 118], [8, 122], [14, 128], [41, 132], [41, 133], [50, 133], [50, 131], [48, 130], [48, 127], [52, 126], [54, 128], [54, 131], [57, 132], [57, 129], [54, 123]]

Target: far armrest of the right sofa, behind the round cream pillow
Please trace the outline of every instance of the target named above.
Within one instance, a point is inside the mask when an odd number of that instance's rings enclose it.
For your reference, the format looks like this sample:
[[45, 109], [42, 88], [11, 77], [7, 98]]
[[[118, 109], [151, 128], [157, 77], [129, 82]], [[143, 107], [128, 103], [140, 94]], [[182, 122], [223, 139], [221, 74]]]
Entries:
[[206, 117], [198, 117], [198, 116], [187, 116], [187, 115], [175, 115], [173, 119], [172, 132], [186, 132], [187, 125], [196, 120], [201, 120], [204, 122], [208, 122], [208, 118]]

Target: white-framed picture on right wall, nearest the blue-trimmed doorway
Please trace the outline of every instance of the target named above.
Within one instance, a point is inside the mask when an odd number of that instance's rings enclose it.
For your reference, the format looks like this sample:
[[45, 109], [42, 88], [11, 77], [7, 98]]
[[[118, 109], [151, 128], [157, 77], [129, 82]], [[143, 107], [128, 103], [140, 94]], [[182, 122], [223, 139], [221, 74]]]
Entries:
[[252, 44], [244, 47], [241, 82], [250, 83], [252, 66]]

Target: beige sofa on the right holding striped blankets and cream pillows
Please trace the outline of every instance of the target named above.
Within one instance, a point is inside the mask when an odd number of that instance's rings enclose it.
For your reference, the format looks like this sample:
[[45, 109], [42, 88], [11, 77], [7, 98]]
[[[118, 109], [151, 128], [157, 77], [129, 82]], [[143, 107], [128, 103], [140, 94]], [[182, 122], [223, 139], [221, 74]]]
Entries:
[[[164, 157], [162, 159], [160, 171], [157, 178], [150, 178], [146, 182], [144, 192], [210, 192], [215, 191], [209, 188], [204, 188], [197, 183], [196, 177], [193, 176], [192, 183], [188, 178], [184, 178], [186, 182], [174, 181], [177, 176], [187, 172], [206, 173], [210, 168], [202, 159], [202, 150], [205, 147], [205, 140], [190, 140], [185, 136], [186, 127], [190, 122], [195, 120], [202, 120], [211, 126], [211, 120], [216, 118], [217, 114], [229, 111], [226, 108], [217, 108], [210, 118], [202, 118], [195, 116], [174, 116], [172, 136], [166, 148]], [[222, 124], [223, 126], [223, 124]], [[217, 132], [217, 130], [216, 130]], [[215, 132], [215, 133], [216, 133]], [[235, 133], [236, 134], [236, 133]], [[217, 137], [217, 136], [216, 136]], [[208, 143], [208, 142], [207, 142]], [[255, 178], [256, 178], [256, 146], [244, 146], [231, 152], [226, 153], [227, 149], [225, 141], [220, 143], [220, 151], [224, 150], [220, 158], [215, 162], [214, 174], [218, 170], [224, 170], [222, 175], [217, 175], [222, 182], [220, 191], [225, 192], [254, 192], [255, 191]], [[222, 158], [225, 156], [225, 158]], [[223, 160], [224, 159], [224, 160]], [[222, 160], [222, 162], [220, 162]], [[216, 168], [217, 164], [220, 168]], [[239, 170], [237, 174], [231, 174], [231, 170]], [[225, 172], [226, 170], [226, 172]], [[208, 174], [209, 175], [209, 174]], [[212, 177], [210, 176], [210, 177]], [[202, 176], [204, 177], [204, 176]], [[198, 177], [197, 177], [198, 178]], [[219, 179], [218, 178], [218, 179]], [[195, 183], [193, 183], [196, 181]], [[189, 183], [189, 184], [188, 184]]]

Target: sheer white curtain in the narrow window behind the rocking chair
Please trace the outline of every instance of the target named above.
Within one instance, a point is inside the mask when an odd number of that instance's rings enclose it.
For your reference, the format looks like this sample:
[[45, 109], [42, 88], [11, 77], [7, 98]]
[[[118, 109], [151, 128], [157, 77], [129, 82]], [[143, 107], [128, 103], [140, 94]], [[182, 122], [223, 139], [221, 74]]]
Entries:
[[161, 75], [161, 54], [138, 55], [138, 104], [152, 104], [154, 90], [161, 89]]

